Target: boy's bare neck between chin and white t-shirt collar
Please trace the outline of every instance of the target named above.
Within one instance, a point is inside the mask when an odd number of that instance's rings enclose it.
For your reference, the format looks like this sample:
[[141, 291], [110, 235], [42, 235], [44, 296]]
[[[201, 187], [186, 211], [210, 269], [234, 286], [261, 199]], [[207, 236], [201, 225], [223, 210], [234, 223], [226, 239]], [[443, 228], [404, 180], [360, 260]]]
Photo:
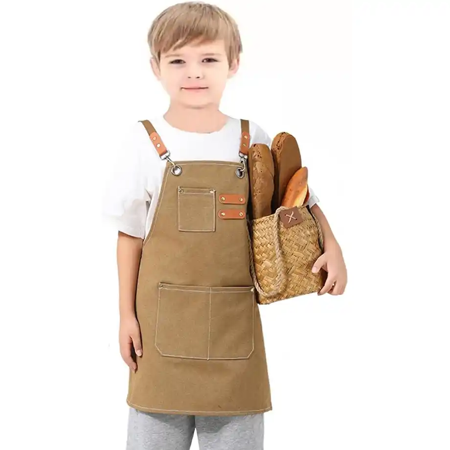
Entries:
[[214, 133], [221, 130], [229, 119], [217, 107], [189, 109], [171, 106], [163, 117], [172, 127], [192, 133]]

